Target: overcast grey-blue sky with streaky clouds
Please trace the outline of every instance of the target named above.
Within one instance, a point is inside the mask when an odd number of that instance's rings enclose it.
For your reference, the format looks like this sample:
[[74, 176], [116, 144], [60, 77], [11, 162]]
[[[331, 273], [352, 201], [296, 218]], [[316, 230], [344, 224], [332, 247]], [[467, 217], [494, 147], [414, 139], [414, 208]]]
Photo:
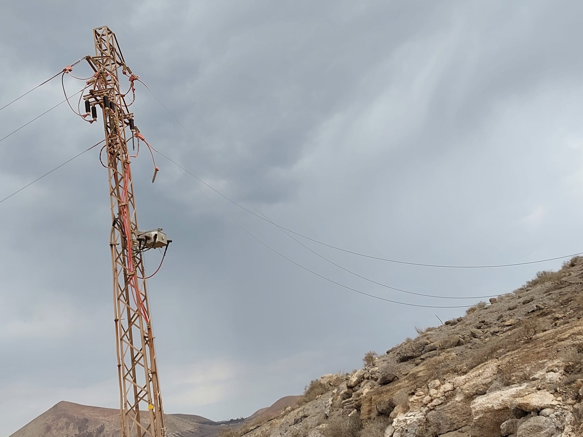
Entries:
[[[0, 15], [0, 107], [94, 54], [92, 29], [106, 24], [189, 132], [138, 84], [142, 133], [239, 205], [382, 258], [553, 258], [583, 251], [582, 15], [580, 2], [534, 0], [10, 2]], [[71, 77], [65, 85], [82, 87]], [[62, 99], [55, 79], [2, 110], [0, 138]], [[99, 123], [60, 105], [0, 142], [0, 198], [102, 138]], [[480, 300], [360, 279], [164, 158], [157, 164], [155, 184], [149, 155], [132, 171], [139, 226], [174, 240], [149, 281], [167, 413], [250, 415], [324, 373], [359, 367], [364, 353], [436, 325], [436, 315], [463, 314], [357, 294], [250, 234], [369, 294], [437, 306]], [[0, 435], [61, 400], [117, 407], [110, 210], [97, 150], [0, 212]], [[503, 294], [561, 264], [438, 269], [296, 238], [354, 273], [423, 294]], [[150, 272], [159, 259], [147, 254]]]

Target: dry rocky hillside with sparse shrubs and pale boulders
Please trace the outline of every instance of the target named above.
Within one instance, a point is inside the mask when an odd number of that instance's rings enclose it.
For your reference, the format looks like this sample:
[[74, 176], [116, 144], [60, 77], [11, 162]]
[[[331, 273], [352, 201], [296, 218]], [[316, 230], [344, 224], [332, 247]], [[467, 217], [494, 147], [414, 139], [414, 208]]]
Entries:
[[583, 258], [221, 437], [583, 436]]

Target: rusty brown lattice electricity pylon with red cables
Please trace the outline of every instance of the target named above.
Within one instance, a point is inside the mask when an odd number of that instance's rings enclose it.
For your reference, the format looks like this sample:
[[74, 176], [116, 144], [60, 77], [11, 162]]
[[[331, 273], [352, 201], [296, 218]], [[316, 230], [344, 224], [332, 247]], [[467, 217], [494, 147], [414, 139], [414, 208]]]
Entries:
[[[143, 137], [135, 128], [134, 114], [125, 102], [118, 71], [122, 69], [124, 75], [129, 72], [132, 91], [138, 77], [125, 65], [117, 38], [107, 26], [93, 29], [93, 37], [95, 56], [87, 57], [87, 61], [96, 74], [87, 83], [93, 89], [83, 97], [86, 115], [91, 114], [93, 121], [97, 119], [97, 106], [101, 107], [106, 135], [121, 435], [164, 437], [166, 428], [142, 259], [143, 235], [147, 233], [138, 231], [129, 162], [134, 156], [128, 150], [128, 137], [132, 140], [130, 145], [135, 138]], [[157, 232], [156, 237], [158, 246], [161, 239], [166, 241], [162, 232]], [[145, 407], [142, 411], [141, 406]]]

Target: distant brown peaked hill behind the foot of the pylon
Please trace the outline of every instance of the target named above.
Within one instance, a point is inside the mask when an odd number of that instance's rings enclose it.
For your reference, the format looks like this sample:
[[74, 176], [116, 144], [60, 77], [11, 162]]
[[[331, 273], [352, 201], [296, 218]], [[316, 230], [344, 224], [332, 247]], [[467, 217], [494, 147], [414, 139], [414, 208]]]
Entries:
[[[197, 415], [166, 414], [168, 437], [213, 437], [223, 427]], [[59, 402], [10, 437], [119, 437], [120, 410]]]

